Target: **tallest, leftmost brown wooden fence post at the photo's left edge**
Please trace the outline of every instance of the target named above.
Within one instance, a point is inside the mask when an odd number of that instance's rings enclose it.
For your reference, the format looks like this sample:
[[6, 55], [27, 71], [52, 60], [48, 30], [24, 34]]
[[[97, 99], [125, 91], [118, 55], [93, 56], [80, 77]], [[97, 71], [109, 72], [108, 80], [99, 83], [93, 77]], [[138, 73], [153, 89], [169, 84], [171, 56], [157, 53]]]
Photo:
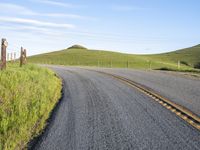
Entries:
[[1, 70], [6, 69], [6, 48], [8, 46], [8, 42], [6, 39], [2, 39], [1, 41]]

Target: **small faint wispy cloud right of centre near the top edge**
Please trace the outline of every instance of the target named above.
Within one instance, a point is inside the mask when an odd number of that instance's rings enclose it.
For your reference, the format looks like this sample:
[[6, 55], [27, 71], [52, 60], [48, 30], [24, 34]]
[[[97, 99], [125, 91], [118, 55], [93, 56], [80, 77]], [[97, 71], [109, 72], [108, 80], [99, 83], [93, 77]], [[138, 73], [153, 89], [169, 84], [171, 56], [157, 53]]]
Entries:
[[144, 8], [136, 7], [136, 6], [129, 6], [129, 5], [113, 5], [111, 6], [112, 10], [115, 11], [135, 11], [135, 10], [142, 10]]

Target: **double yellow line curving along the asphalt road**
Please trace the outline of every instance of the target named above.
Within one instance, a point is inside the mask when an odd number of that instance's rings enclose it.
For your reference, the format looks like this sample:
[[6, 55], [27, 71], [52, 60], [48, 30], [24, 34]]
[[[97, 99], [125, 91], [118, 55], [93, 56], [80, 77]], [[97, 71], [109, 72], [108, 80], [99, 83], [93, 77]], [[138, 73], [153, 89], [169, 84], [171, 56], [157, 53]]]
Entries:
[[191, 126], [193, 126], [194, 128], [196, 128], [197, 130], [200, 131], [200, 117], [198, 117], [196, 114], [194, 114], [187, 108], [185, 108], [181, 105], [178, 105], [178, 104], [174, 103], [173, 101], [171, 101], [171, 100], [169, 100], [169, 99], [167, 99], [167, 98], [165, 98], [165, 97], [163, 97], [163, 96], [147, 89], [146, 87], [144, 87], [132, 80], [129, 80], [127, 78], [124, 78], [124, 77], [121, 77], [118, 75], [113, 75], [113, 74], [103, 72], [103, 71], [97, 71], [97, 70], [91, 70], [91, 69], [87, 69], [87, 70], [95, 71], [95, 72], [98, 72], [101, 74], [111, 76], [111, 77], [139, 90], [140, 92], [144, 93], [148, 97], [151, 97], [153, 100], [155, 100], [156, 102], [161, 104], [163, 107], [170, 110], [172, 113], [176, 114], [178, 117], [180, 117], [181, 119], [186, 121], [188, 124], [190, 124]]

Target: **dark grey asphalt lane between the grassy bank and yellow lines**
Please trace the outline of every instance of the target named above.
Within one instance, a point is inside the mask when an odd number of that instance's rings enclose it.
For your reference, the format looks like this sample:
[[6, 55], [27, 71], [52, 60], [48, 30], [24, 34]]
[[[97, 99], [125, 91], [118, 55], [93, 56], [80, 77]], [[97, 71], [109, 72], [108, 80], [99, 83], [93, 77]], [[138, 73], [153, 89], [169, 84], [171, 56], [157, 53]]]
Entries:
[[199, 150], [200, 132], [109, 76], [52, 67], [64, 97], [36, 150]]

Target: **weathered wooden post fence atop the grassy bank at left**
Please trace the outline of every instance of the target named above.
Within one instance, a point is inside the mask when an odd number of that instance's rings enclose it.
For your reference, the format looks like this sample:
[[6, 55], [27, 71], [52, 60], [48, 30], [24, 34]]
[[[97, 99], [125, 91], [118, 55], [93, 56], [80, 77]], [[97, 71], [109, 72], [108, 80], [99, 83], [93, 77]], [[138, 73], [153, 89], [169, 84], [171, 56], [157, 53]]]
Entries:
[[20, 67], [27, 63], [27, 55], [26, 49], [21, 47], [20, 53], [16, 50], [8, 49], [8, 42], [5, 38], [1, 41], [1, 62], [0, 62], [0, 69], [6, 69], [6, 63], [9, 61], [11, 63], [15, 62], [16, 60], [20, 60]]

